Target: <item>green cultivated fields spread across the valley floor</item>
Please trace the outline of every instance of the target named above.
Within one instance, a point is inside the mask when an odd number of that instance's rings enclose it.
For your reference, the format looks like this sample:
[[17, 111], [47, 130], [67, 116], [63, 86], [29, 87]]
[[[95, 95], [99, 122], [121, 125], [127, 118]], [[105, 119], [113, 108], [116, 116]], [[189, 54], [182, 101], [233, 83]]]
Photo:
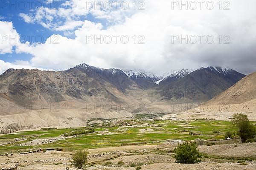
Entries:
[[[113, 126], [113, 125], [112, 125]], [[120, 127], [88, 126], [85, 129], [95, 129], [94, 133], [73, 136], [41, 146], [18, 146], [20, 143], [34, 139], [58, 137], [77, 128], [25, 131], [20, 134], [1, 135], [0, 142], [13, 141], [15, 138], [26, 138], [22, 142], [13, 142], [0, 146], [0, 153], [24, 152], [29, 149], [62, 148], [64, 150], [112, 147], [133, 144], [160, 144], [166, 139], [224, 139], [228, 130], [236, 130], [229, 121], [198, 120], [198, 121], [130, 121]], [[141, 127], [143, 126], [143, 127]], [[142, 129], [150, 128], [148, 131]], [[111, 134], [106, 134], [111, 133]], [[112, 134], [113, 133], [113, 134]], [[193, 133], [193, 134], [192, 134]]]

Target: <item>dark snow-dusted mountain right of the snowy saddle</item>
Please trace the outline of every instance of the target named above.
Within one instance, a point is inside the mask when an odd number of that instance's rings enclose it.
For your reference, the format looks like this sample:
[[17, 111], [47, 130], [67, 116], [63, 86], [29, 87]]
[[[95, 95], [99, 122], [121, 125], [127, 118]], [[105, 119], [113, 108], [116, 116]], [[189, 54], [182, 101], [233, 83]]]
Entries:
[[245, 77], [235, 70], [219, 67], [200, 68], [179, 79], [170, 79], [155, 88], [153, 93], [162, 99], [205, 102], [230, 88]]

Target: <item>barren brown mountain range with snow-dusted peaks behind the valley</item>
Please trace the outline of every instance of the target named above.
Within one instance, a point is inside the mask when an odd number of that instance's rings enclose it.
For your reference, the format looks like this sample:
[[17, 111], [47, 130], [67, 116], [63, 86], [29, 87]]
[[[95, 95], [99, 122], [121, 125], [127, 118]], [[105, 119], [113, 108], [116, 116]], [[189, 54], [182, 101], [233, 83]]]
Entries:
[[173, 72], [122, 71], [85, 63], [58, 72], [8, 69], [0, 75], [0, 128], [12, 123], [82, 126], [89, 119], [172, 113], [173, 102], [207, 102], [245, 77], [211, 66]]

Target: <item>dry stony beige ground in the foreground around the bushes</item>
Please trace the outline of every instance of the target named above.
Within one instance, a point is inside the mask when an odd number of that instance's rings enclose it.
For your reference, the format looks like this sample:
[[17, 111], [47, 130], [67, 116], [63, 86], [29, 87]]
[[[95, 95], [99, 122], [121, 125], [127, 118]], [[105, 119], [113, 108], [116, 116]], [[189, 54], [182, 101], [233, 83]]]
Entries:
[[[221, 144], [198, 146], [207, 155], [198, 164], [176, 164], [173, 158], [174, 146], [167, 144], [145, 146], [123, 146], [89, 149], [87, 170], [135, 170], [132, 164], [139, 164], [142, 170], [255, 170], [256, 143]], [[17, 170], [77, 170], [71, 166], [73, 152], [46, 151], [26, 155], [9, 154], [0, 156], [0, 169], [17, 166]], [[239, 159], [245, 160], [239, 160]], [[247, 159], [247, 161], [246, 161]], [[122, 161], [123, 164], [118, 164]]]

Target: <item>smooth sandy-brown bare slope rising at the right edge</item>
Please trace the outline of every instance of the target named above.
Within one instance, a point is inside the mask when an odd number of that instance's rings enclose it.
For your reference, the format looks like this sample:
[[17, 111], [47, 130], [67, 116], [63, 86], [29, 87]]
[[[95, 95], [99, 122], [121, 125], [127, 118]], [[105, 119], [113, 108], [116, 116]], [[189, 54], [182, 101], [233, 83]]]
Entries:
[[227, 120], [234, 113], [244, 113], [256, 120], [256, 72], [247, 75], [223, 93], [194, 109], [181, 112], [180, 117]]

